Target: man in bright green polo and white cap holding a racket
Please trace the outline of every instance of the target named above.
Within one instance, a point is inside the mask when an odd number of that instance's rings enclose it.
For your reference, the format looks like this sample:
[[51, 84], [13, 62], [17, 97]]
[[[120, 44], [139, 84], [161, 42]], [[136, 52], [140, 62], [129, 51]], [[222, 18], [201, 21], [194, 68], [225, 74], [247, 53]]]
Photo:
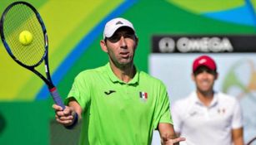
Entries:
[[174, 133], [163, 83], [133, 64], [137, 45], [131, 22], [120, 17], [109, 21], [100, 41], [108, 64], [76, 77], [64, 110], [53, 104], [57, 122], [66, 128], [82, 121], [81, 145], [151, 144], [154, 129], [163, 144], [184, 140]]

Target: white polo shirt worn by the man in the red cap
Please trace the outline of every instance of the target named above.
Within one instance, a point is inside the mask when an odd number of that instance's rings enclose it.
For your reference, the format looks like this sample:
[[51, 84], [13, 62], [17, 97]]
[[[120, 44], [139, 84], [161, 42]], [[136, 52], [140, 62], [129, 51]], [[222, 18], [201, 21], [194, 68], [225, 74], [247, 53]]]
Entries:
[[231, 130], [243, 127], [238, 101], [223, 93], [215, 93], [207, 107], [193, 92], [173, 104], [172, 116], [187, 145], [231, 145]]

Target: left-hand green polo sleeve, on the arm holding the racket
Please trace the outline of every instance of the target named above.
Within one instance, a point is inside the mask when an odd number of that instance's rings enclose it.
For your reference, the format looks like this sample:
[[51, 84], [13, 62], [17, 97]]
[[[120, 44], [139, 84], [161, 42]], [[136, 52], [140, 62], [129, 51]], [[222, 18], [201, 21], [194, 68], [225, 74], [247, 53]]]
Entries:
[[74, 98], [78, 101], [82, 109], [86, 109], [90, 100], [90, 79], [85, 72], [80, 73], [74, 80], [72, 89], [68, 93], [68, 97], [65, 99], [65, 104], [68, 104], [69, 98]]

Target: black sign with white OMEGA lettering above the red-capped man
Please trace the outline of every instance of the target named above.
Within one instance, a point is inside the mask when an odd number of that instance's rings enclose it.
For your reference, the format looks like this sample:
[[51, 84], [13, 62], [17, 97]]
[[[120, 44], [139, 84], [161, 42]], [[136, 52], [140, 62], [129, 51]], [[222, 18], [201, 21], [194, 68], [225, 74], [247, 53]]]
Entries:
[[255, 41], [256, 36], [153, 36], [153, 52], [255, 52]]

